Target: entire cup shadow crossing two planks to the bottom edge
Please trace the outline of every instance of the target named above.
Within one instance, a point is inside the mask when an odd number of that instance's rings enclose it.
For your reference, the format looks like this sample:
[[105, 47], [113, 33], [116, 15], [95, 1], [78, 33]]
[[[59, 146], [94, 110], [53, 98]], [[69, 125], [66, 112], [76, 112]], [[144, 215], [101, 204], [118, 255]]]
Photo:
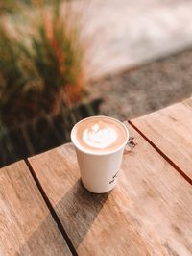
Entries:
[[[95, 194], [86, 191], [79, 179], [54, 207], [75, 249], [83, 242], [94, 219], [107, 201], [108, 194], [109, 192]], [[57, 225], [53, 225], [53, 222], [49, 214], [15, 255], [68, 255], [65, 241], [59, 237]]]

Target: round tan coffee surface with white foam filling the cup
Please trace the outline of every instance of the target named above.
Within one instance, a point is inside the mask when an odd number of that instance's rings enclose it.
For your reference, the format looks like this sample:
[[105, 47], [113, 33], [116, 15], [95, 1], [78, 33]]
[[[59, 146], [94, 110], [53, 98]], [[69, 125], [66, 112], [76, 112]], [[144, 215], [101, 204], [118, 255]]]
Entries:
[[109, 153], [128, 138], [124, 125], [108, 116], [86, 118], [75, 125], [72, 134], [77, 147], [90, 153]]

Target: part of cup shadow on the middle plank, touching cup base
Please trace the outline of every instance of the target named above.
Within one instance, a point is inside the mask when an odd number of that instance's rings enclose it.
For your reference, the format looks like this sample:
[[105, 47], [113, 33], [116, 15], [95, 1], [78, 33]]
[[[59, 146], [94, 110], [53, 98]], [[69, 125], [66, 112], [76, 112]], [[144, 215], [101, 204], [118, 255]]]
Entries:
[[56, 206], [55, 210], [62, 226], [76, 249], [83, 242], [108, 195], [109, 192], [103, 194], [88, 192], [79, 179]]

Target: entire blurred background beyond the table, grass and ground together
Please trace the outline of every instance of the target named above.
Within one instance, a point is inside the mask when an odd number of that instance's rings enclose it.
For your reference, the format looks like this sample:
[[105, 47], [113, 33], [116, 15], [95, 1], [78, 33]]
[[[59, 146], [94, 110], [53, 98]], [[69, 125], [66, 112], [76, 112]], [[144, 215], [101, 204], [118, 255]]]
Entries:
[[0, 167], [70, 141], [80, 119], [192, 96], [192, 2], [0, 0]]

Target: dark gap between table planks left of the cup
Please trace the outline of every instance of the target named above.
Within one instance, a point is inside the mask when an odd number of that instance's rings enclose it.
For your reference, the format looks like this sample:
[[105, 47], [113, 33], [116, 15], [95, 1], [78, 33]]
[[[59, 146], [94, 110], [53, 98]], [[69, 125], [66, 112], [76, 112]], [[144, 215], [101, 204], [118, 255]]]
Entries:
[[46, 205], [47, 205], [47, 207], [48, 207], [48, 209], [49, 209], [49, 211], [50, 211], [52, 217], [54, 218], [56, 224], [58, 225], [58, 228], [59, 228], [59, 230], [60, 230], [60, 233], [61, 233], [63, 239], [66, 241], [66, 243], [67, 243], [67, 245], [68, 245], [68, 247], [69, 247], [71, 253], [72, 253], [74, 256], [78, 256], [78, 253], [77, 253], [77, 251], [76, 251], [76, 249], [75, 249], [75, 247], [74, 247], [74, 245], [73, 245], [71, 239], [70, 239], [69, 236], [67, 235], [65, 229], [63, 228], [63, 226], [62, 226], [62, 224], [61, 224], [61, 222], [60, 222], [60, 218], [58, 217], [58, 215], [57, 215], [56, 211], [54, 210], [54, 208], [53, 208], [53, 206], [52, 206], [52, 204], [51, 204], [49, 198], [47, 197], [47, 195], [46, 195], [46, 193], [44, 192], [42, 186], [40, 185], [40, 182], [39, 182], [38, 178], [36, 177], [36, 173], [35, 173], [33, 167], [31, 166], [31, 164], [30, 164], [30, 162], [29, 162], [28, 159], [25, 159], [24, 161], [25, 161], [25, 164], [28, 166], [28, 168], [29, 168], [29, 170], [30, 170], [30, 172], [31, 172], [31, 174], [32, 174], [32, 176], [33, 176], [33, 178], [34, 178], [34, 180], [35, 180], [35, 182], [36, 182], [36, 186], [37, 186], [39, 192], [41, 193], [42, 198], [44, 199], [44, 201], [45, 201], [45, 203], [46, 203]]

